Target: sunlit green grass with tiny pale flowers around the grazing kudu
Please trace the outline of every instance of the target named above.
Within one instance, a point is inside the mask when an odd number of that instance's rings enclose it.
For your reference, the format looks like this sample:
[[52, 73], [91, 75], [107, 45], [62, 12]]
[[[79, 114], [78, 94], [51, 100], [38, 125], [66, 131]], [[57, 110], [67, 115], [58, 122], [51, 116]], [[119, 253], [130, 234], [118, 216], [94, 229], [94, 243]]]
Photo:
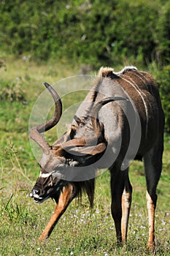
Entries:
[[[1, 89], [19, 84], [23, 97], [0, 102], [0, 255], [149, 255], [147, 245], [147, 208], [145, 178], [142, 163], [131, 165], [134, 187], [128, 243], [116, 246], [115, 226], [110, 215], [109, 173], [96, 179], [94, 208], [90, 210], [87, 197], [74, 201], [67, 209], [50, 239], [37, 244], [50, 219], [55, 203], [47, 200], [37, 205], [28, 197], [34, 186], [39, 167], [28, 140], [28, 120], [31, 109], [42, 92], [42, 82], [54, 83], [61, 78], [78, 74], [77, 69], [62, 65], [34, 64], [23, 59], [2, 59]], [[4, 82], [5, 81], [5, 82]], [[75, 94], [65, 98], [64, 108], [72, 105]], [[78, 101], [81, 101], [83, 95]], [[72, 117], [71, 117], [72, 118]], [[54, 132], [47, 138], [53, 140]], [[163, 173], [158, 184], [158, 206], [155, 218], [156, 255], [170, 255], [170, 139], [165, 138]]]

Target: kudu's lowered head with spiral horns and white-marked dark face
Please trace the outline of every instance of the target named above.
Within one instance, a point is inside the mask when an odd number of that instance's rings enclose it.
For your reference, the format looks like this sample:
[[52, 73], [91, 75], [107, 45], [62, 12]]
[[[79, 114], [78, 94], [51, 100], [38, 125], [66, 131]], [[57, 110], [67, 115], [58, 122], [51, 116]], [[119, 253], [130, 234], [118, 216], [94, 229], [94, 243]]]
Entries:
[[[77, 121], [77, 124], [72, 125], [66, 134], [50, 146], [42, 136], [42, 132], [58, 123], [62, 114], [62, 103], [53, 87], [48, 83], [45, 83], [45, 86], [54, 99], [55, 113], [53, 118], [45, 124], [33, 127], [30, 132], [30, 138], [42, 148], [42, 158], [39, 161], [41, 171], [30, 196], [34, 197], [37, 203], [42, 203], [49, 197], [54, 198], [58, 203], [63, 187], [72, 184], [72, 181], [77, 179], [76, 173], [80, 173], [82, 167], [96, 162], [96, 159], [104, 153], [106, 143], [102, 137], [102, 125], [95, 116], [101, 105], [107, 104], [112, 99], [105, 99], [93, 108], [87, 135], [76, 138], [77, 132], [81, 134], [81, 130], [83, 133], [85, 129], [85, 125]], [[94, 172], [94, 168], [91, 168], [88, 167], [88, 171]]]

